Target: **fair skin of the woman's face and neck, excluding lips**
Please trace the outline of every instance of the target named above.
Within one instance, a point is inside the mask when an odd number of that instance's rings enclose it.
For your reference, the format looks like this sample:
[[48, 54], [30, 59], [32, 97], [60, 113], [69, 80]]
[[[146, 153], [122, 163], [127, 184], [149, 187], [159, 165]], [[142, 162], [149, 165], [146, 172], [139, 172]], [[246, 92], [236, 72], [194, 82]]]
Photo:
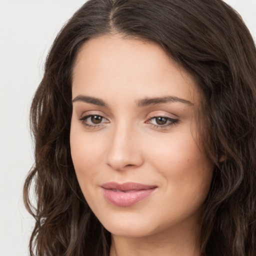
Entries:
[[[183, 100], [137, 105], [167, 95]], [[81, 47], [72, 98], [71, 156], [87, 203], [112, 234], [110, 255], [199, 255], [212, 164], [199, 142], [192, 77], [154, 43], [105, 35]], [[97, 118], [84, 118], [89, 114]], [[166, 119], [159, 124], [155, 116]], [[117, 206], [103, 196], [109, 181], [157, 188], [134, 205]]]

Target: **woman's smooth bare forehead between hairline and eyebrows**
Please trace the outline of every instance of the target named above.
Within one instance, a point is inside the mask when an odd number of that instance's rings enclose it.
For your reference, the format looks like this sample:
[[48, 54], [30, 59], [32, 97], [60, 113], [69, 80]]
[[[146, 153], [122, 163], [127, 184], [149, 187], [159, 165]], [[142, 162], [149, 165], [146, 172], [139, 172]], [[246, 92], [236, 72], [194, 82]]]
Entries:
[[193, 78], [162, 47], [119, 35], [86, 41], [77, 54], [72, 78], [74, 93], [78, 93], [77, 90], [86, 94], [102, 93], [102, 90], [117, 93], [125, 88], [138, 97], [174, 93], [196, 101], [198, 96]]

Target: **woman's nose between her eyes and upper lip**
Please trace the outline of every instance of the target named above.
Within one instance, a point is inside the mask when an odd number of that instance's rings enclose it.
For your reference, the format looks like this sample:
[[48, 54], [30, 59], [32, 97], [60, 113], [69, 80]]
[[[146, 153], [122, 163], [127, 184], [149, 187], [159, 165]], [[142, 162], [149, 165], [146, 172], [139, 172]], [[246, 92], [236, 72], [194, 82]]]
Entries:
[[135, 168], [143, 163], [142, 145], [134, 127], [117, 125], [108, 137], [106, 163], [115, 170]]

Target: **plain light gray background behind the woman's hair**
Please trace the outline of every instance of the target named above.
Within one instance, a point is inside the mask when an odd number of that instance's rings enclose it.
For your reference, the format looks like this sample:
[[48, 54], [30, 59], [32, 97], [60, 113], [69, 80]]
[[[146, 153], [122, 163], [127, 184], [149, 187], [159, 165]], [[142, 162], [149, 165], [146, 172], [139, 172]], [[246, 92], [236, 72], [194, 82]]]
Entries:
[[[22, 185], [33, 163], [31, 97], [55, 35], [85, 0], [0, 0], [0, 256], [28, 255]], [[256, 38], [256, 0], [226, 0]]]

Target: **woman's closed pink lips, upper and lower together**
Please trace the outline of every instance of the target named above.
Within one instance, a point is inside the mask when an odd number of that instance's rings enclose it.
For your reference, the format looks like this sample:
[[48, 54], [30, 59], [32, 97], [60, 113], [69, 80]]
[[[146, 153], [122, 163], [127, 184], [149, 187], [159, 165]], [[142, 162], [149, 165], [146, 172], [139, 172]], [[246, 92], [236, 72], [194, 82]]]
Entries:
[[108, 202], [117, 206], [130, 206], [149, 196], [157, 186], [134, 182], [107, 182], [101, 187]]

